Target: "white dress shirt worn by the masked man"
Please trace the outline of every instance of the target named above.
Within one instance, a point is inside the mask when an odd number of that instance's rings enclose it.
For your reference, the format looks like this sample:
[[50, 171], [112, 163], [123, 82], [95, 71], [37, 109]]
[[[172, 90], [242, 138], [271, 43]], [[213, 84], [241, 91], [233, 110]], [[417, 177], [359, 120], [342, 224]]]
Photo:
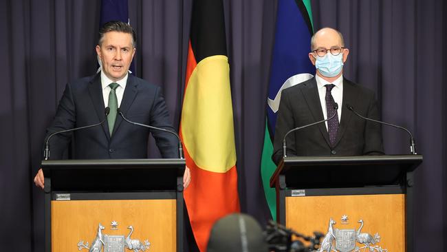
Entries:
[[[318, 95], [320, 96], [321, 109], [323, 110], [323, 118], [327, 119], [327, 110], [326, 110], [326, 87], [327, 84], [334, 84], [335, 87], [332, 88], [331, 94], [334, 97], [334, 101], [338, 104], [337, 114], [338, 114], [338, 123], [340, 123], [340, 119], [342, 118], [342, 104], [343, 104], [343, 75], [338, 77], [333, 83], [329, 83], [324, 78], [316, 75], [316, 85], [318, 87]], [[332, 115], [329, 115], [332, 116]], [[327, 122], [326, 122], [327, 129]]]

